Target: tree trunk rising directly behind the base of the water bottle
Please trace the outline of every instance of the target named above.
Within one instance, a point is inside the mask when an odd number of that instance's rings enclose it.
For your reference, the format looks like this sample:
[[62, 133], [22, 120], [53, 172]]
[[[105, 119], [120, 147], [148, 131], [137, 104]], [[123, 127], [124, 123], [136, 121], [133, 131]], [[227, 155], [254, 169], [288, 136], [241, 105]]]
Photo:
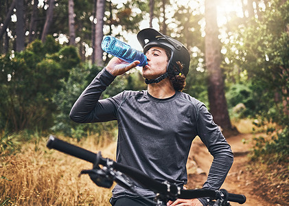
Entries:
[[95, 45], [94, 45], [94, 55], [95, 55], [95, 62], [98, 66], [103, 66], [103, 51], [102, 51], [102, 38], [104, 37], [104, 8], [105, 8], [105, 1], [104, 0], [97, 0], [97, 10], [96, 10], [96, 30], [95, 30]]

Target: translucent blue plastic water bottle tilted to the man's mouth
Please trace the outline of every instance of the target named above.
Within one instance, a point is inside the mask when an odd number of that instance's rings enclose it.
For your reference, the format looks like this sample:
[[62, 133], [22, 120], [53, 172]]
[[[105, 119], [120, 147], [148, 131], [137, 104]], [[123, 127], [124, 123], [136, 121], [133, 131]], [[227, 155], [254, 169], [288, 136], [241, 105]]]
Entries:
[[117, 56], [118, 58], [121, 58], [122, 60], [125, 60], [129, 63], [135, 60], [139, 60], [140, 63], [137, 65], [139, 67], [148, 65], [146, 55], [137, 51], [136, 49], [132, 49], [130, 45], [119, 41], [119, 39], [113, 36], [104, 37], [104, 40], [102, 41], [102, 49], [104, 52], [107, 52], [113, 56]]

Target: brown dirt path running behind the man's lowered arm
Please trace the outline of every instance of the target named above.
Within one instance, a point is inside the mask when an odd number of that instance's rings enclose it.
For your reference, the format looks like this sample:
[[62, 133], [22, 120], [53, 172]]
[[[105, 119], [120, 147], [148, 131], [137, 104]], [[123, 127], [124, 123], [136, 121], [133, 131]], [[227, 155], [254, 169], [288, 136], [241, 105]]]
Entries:
[[[246, 196], [246, 203], [243, 205], [268, 206], [270, 204], [264, 203], [264, 200], [262, 200], [260, 196], [254, 194], [256, 185], [253, 182], [251, 174], [246, 170], [246, 165], [249, 161], [247, 155], [250, 144], [243, 144], [242, 139], [248, 141], [252, 136], [251, 134], [240, 134], [227, 138], [234, 152], [234, 162], [221, 188], [228, 190], [230, 193], [244, 194]], [[200, 139], [194, 140], [191, 151], [187, 165], [189, 174], [188, 187], [202, 187], [204, 181], [207, 179], [212, 158]], [[231, 205], [235, 206], [240, 204], [231, 203]]]

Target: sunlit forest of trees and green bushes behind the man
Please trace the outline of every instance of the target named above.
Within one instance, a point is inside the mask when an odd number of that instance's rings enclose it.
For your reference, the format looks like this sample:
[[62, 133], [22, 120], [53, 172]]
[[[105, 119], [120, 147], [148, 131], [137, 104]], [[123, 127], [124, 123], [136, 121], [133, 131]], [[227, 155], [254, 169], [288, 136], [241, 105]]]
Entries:
[[[250, 119], [264, 133], [252, 160], [268, 172], [282, 165], [278, 178], [288, 179], [288, 11], [285, 0], [1, 0], [1, 168], [25, 144], [38, 150], [49, 133], [115, 141], [116, 122], [75, 124], [69, 111], [111, 58], [100, 47], [104, 36], [140, 47], [137, 32], [154, 27], [189, 49], [184, 92], [207, 104], [228, 137], [238, 133], [234, 123]], [[125, 89], [146, 89], [139, 68], [116, 78], [102, 98]], [[10, 179], [1, 174], [1, 187]], [[0, 194], [3, 204], [21, 199]]]

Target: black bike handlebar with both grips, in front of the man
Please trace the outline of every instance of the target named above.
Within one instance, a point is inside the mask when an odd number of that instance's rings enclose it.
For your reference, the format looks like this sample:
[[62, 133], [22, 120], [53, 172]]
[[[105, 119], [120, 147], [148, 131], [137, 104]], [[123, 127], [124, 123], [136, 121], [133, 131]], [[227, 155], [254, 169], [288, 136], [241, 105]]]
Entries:
[[[79, 159], [83, 159], [85, 161], [89, 161], [91, 163], [95, 163], [95, 160], [97, 159], [97, 154], [85, 150], [84, 148], [80, 148], [78, 146], [74, 146], [73, 144], [69, 144], [66, 141], [62, 141], [60, 139], [57, 139], [53, 135], [50, 135], [49, 140], [47, 141], [47, 148], [53, 148], [60, 152], [64, 152], [67, 155], [71, 155], [73, 157], [78, 157]], [[130, 178], [134, 179], [144, 187], [148, 188], [149, 190], [152, 190], [153, 192], [160, 193], [160, 194], [178, 194], [178, 198], [203, 198], [203, 197], [209, 197], [209, 198], [217, 198], [218, 191], [216, 190], [207, 190], [207, 189], [198, 189], [198, 190], [183, 190], [180, 187], [172, 184], [167, 183], [161, 183], [159, 181], [156, 181], [150, 176], [144, 174], [143, 172], [132, 168], [127, 165], [123, 165], [121, 163], [117, 163], [115, 161], [112, 161], [111, 159], [104, 159], [100, 158], [98, 159], [98, 163], [101, 165], [106, 165], [110, 161], [111, 166], [118, 170], [119, 172], [123, 172], [127, 176], [130, 176]], [[235, 203], [243, 204], [246, 202], [246, 196], [243, 194], [232, 194], [228, 192], [224, 192], [227, 195], [228, 201], [233, 201]]]

